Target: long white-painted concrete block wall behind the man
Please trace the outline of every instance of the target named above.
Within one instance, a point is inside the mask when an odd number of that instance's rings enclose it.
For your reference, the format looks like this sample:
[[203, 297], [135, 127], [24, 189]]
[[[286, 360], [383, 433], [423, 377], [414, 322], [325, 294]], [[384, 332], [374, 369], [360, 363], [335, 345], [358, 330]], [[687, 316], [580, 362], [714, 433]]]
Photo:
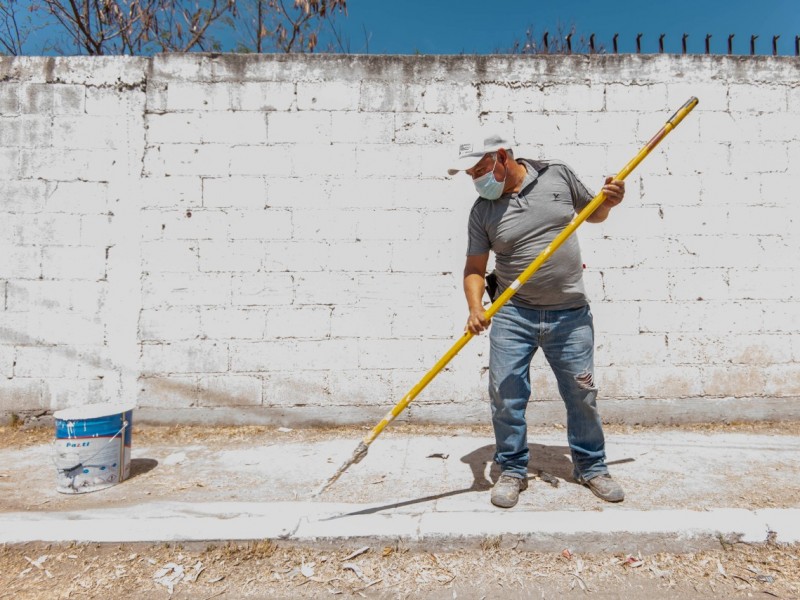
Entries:
[[[594, 189], [578, 232], [606, 418], [800, 416], [789, 57], [0, 59], [0, 415], [371, 423], [463, 330], [470, 122]], [[488, 340], [403, 418], [488, 419]], [[532, 422], [563, 419], [537, 357]], [[0, 416], [0, 418], [3, 418]]]

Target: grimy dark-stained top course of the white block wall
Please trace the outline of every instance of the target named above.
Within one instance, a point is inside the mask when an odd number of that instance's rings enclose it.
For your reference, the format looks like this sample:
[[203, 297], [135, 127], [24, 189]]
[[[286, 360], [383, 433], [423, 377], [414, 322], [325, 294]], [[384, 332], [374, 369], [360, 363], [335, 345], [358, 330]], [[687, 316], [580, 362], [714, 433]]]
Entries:
[[670, 83], [800, 85], [800, 58], [703, 54], [376, 55], [174, 53], [0, 57], [0, 81], [138, 86], [146, 81]]

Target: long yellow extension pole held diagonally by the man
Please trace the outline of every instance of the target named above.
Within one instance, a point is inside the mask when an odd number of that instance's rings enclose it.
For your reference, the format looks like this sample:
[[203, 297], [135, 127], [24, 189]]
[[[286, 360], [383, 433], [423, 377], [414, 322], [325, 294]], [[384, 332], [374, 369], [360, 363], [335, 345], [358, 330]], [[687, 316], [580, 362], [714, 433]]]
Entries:
[[[671, 132], [678, 124], [683, 121], [684, 117], [691, 112], [691, 110], [697, 106], [698, 99], [695, 97], [689, 98], [689, 100], [684, 104], [678, 111], [670, 117], [670, 119], [666, 122], [666, 124], [656, 133], [653, 138], [647, 142], [647, 144], [639, 150], [639, 153], [633, 157], [633, 159], [625, 165], [622, 170], [617, 173], [615, 179], [623, 180], [628, 175], [631, 174], [637, 165], [642, 162], [645, 157], [650, 154], [650, 152], [655, 148], [661, 140], [663, 140], [669, 132]], [[567, 225], [561, 233], [559, 233], [556, 238], [550, 243], [547, 248], [545, 248], [539, 256], [537, 256], [534, 261], [528, 265], [528, 267], [517, 277], [514, 282], [506, 288], [500, 296], [495, 300], [492, 305], [486, 309], [485, 317], [486, 319], [491, 319], [497, 311], [502, 308], [502, 306], [508, 302], [508, 300], [517, 293], [517, 290], [522, 287], [522, 285], [530, 279], [530, 277], [542, 266], [542, 264], [550, 258], [550, 256], [555, 252], [561, 244], [564, 243], [570, 235], [572, 235], [575, 230], [581, 226], [581, 224], [589, 218], [589, 216], [597, 210], [597, 208], [605, 201], [606, 196], [604, 192], [600, 192], [597, 194], [586, 207], [578, 213], [575, 218]], [[339, 477], [344, 473], [347, 468], [357, 462], [360, 462], [367, 455], [367, 450], [369, 449], [369, 445], [375, 441], [381, 432], [386, 428], [386, 426], [394, 421], [394, 419], [402, 413], [406, 407], [417, 397], [417, 395], [425, 389], [434, 377], [436, 377], [439, 372], [447, 366], [453, 357], [458, 354], [461, 349], [467, 345], [467, 343], [474, 337], [474, 334], [470, 333], [469, 331], [465, 332], [455, 344], [440, 358], [435, 365], [422, 377], [422, 379], [417, 382], [417, 384], [412, 387], [408, 393], [403, 396], [403, 399], [398, 402], [392, 410], [390, 410], [383, 419], [381, 419], [380, 423], [375, 425], [372, 430], [364, 437], [364, 439], [359, 443], [356, 447], [353, 455], [344, 462], [344, 464], [339, 467], [339, 470], [333, 474], [333, 476], [326, 481], [320, 489], [314, 493], [314, 496], [319, 496], [322, 492], [324, 492], [328, 487], [330, 487], [333, 482], [335, 482]]]

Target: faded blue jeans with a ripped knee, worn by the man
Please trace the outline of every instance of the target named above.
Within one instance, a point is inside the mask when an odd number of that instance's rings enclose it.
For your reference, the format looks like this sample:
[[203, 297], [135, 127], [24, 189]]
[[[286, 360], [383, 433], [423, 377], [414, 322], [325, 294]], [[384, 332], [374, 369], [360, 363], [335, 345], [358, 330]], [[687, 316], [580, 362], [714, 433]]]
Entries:
[[515, 477], [528, 476], [525, 410], [531, 395], [530, 363], [541, 348], [567, 408], [567, 441], [575, 479], [585, 482], [608, 473], [596, 404], [594, 325], [589, 307], [536, 310], [506, 304], [492, 318], [489, 341], [494, 459], [500, 469]]

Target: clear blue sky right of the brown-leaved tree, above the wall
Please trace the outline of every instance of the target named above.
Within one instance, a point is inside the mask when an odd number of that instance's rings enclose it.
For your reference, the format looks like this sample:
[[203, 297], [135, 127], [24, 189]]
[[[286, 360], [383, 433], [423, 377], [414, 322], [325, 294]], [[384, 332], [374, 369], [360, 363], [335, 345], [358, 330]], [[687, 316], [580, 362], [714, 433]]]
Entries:
[[793, 55], [800, 0], [348, 0], [348, 17], [338, 23], [355, 53], [487, 54], [523, 40], [531, 26], [540, 41], [561, 23], [575, 26], [573, 40], [595, 33], [608, 51], [614, 33], [620, 52], [634, 52], [642, 33], [642, 51], [657, 52], [664, 33], [665, 51], [677, 53], [688, 33], [689, 52], [701, 53], [710, 33], [711, 51], [722, 54], [733, 33], [734, 54], [749, 54], [755, 34], [757, 54], [771, 54], [772, 36], [780, 35], [779, 53]]

